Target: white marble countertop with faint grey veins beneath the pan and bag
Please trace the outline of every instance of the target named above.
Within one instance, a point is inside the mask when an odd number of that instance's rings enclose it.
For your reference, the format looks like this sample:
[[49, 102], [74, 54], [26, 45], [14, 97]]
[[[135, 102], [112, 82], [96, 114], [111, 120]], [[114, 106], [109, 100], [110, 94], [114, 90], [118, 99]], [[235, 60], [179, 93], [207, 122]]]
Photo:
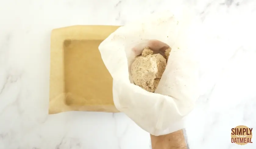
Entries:
[[[187, 118], [190, 149], [253, 149], [230, 143], [256, 128], [256, 2], [184, 0], [201, 17], [201, 97]], [[50, 32], [69, 25], [125, 25], [169, 9], [169, 0], [0, 0], [0, 149], [150, 149], [124, 114], [48, 115]], [[253, 142], [254, 142], [253, 137]]]

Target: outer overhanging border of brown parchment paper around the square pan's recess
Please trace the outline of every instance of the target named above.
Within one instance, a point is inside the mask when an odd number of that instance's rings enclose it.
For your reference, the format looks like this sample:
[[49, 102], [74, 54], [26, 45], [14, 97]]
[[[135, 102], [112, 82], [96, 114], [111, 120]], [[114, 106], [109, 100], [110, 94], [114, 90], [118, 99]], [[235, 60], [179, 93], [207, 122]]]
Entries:
[[[67, 106], [65, 103], [66, 93], [64, 82], [63, 44], [66, 40], [105, 40], [112, 32], [114, 32], [119, 27], [120, 26], [113, 25], [74, 25], [63, 28], [56, 28], [52, 30], [50, 51], [51, 62], [48, 110], [49, 114], [56, 114], [65, 111], [95, 111], [94, 108], [90, 106], [86, 106], [86, 108], [85, 106], [71, 107]], [[56, 68], [56, 65], [58, 65], [59, 67]], [[55, 103], [58, 103], [58, 106], [55, 106]], [[112, 109], [108, 111], [107, 107], [108, 106], [106, 105], [105, 112], [119, 112], [117, 109]], [[100, 109], [100, 107], [98, 107], [98, 109]]]

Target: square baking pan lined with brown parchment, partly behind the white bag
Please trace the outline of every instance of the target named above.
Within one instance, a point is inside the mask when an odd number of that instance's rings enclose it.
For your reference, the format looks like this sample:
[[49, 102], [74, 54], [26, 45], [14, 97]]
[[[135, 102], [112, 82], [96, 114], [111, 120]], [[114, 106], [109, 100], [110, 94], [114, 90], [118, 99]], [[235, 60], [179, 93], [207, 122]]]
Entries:
[[75, 25], [52, 30], [49, 114], [119, 112], [113, 102], [112, 77], [98, 50], [117, 28]]

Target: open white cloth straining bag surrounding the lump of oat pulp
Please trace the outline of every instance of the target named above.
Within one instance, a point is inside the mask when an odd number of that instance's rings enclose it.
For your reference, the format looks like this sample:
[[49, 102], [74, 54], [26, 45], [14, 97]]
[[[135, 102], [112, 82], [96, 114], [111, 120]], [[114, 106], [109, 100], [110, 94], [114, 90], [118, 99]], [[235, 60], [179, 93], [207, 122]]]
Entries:
[[[113, 78], [113, 100], [142, 129], [164, 135], [183, 128], [184, 118], [199, 97], [197, 48], [199, 26], [188, 10], [164, 11], [118, 28], [99, 46]], [[133, 83], [130, 66], [145, 47], [171, 47], [154, 93]]]

